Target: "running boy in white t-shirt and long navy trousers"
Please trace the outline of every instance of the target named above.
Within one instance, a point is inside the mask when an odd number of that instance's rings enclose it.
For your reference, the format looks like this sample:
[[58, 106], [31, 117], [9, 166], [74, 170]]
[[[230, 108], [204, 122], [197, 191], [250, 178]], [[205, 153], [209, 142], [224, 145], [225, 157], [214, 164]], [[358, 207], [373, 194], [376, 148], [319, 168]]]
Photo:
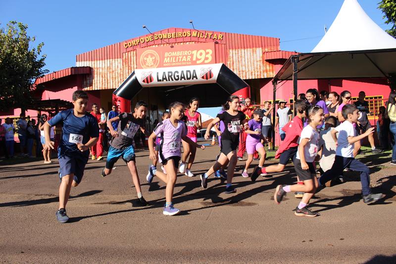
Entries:
[[[371, 193], [369, 168], [359, 160], [353, 158], [354, 143], [373, 133], [374, 128], [369, 128], [364, 134], [356, 136], [356, 129], [353, 126], [353, 123], [356, 123], [359, 117], [357, 107], [354, 105], [343, 106], [342, 115], [345, 118], [345, 121], [331, 132], [334, 142], [337, 142], [338, 144], [336, 158], [331, 169], [326, 171], [319, 178], [319, 186], [324, 187], [326, 182], [335, 176], [341, 175], [345, 168], [349, 168], [352, 171], [360, 172], [363, 202], [366, 204], [375, 202], [383, 198], [384, 195]], [[336, 137], [337, 133], [339, 133], [338, 139]]]

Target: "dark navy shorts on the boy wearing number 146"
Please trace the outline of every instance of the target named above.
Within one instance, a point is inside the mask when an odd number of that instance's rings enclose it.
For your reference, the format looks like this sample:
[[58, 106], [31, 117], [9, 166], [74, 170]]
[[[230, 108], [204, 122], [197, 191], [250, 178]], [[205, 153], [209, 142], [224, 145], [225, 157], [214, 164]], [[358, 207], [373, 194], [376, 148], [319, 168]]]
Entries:
[[88, 162], [88, 156], [79, 153], [60, 154], [58, 153], [60, 177], [74, 174], [74, 181], [80, 183], [84, 176], [84, 168]]

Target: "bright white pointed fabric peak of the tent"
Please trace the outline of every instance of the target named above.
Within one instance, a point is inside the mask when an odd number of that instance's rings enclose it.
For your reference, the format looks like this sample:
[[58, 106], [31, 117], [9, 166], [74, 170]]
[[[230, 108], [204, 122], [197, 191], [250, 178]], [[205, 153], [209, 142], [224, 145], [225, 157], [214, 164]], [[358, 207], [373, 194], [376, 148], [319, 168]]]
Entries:
[[396, 39], [366, 14], [357, 0], [345, 0], [333, 24], [311, 53], [394, 48]]

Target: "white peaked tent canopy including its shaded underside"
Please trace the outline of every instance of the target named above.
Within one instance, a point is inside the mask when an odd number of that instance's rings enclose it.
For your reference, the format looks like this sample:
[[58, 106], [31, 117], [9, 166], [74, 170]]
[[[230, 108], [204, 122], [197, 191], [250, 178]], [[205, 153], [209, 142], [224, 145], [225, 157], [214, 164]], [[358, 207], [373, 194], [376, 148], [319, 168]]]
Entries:
[[[396, 39], [375, 24], [357, 0], [344, 1], [329, 31], [312, 53], [293, 56], [297, 56], [299, 80], [389, 78], [396, 73]], [[293, 79], [293, 67], [296, 67], [293, 56], [275, 75], [274, 81]]]

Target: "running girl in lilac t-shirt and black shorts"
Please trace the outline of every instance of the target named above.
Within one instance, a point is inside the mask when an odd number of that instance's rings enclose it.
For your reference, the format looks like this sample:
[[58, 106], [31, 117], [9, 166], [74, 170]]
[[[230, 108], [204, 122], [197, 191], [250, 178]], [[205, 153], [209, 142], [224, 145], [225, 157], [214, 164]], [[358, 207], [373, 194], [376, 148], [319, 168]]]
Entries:
[[205, 146], [198, 145], [187, 137], [187, 129], [185, 123], [181, 120], [183, 118], [184, 105], [179, 102], [174, 102], [169, 106], [170, 117], [160, 122], [154, 132], [148, 138], [148, 148], [150, 151], [150, 159], [154, 162], [157, 160], [157, 156], [154, 152], [154, 140], [157, 135], [163, 133], [163, 141], [160, 144], [158, 155], [160, 162], [166, 169], [167, 174], [160, 172], [154, 165], [148, 166], [147, 181], [152, 182], [154, 176], [160, 178], [166, 183], [165, 191], [165, 207], [163, 214], [174, 215], [180, 212], [179, 209], [173, 207], [172, 197], [173, 189], [176, 183], [177, 166], [180, 161], [180, 148], [181, 141], [184, 140], [191, 146], [196, 148], [205, 149]]

